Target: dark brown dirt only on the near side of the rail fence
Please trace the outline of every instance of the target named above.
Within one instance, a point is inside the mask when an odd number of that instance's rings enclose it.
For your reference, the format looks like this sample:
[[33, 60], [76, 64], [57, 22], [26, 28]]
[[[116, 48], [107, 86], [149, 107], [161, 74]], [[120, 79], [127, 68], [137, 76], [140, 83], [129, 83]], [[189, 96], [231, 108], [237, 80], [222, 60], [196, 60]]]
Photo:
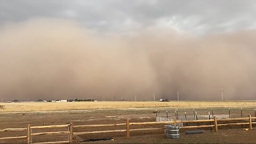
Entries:
[[164, 131], [155, 134], [134, 135], [130, 139], [115, 138], [114, 141], [94, 141], [81, 143], [255, 143], [256, 130], [220, 130], [219, 132], [204, 131], [203, 134], [186, 135], [180, 133], [179, 139], [166, 138]]

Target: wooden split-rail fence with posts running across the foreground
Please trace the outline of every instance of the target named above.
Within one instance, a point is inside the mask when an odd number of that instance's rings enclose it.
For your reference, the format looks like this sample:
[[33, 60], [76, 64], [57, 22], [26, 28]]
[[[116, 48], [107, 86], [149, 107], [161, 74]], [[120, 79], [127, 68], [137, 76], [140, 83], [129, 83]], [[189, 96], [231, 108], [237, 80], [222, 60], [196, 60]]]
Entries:
[[[201, 128], [201, 127], [214, 127], [214, 131], [218, 132], [218, 126], [227, 126], [227, 125], [249, 125], [249, 129], [252, 129], [252, 124], [256, 124], [256, 122], [252, 122], [252, 119], [256, 119], [256, 117], [241, 117], [241, 118], [225, 118], [225, 119], [217, 119], [214, 117], [213, 119], [200, 119], [200, 120], [189, 120], [189, 121], [166, 121], [166, 122], [140, 122], [140, 123], [134, 123], [130, 122], [129, 119], [127, 119], [126, 123], [121, 124], [98, 124], [98, 125], [73, 125], [73, 123], [70, 124], [64, 124], [64, 125], [47, 125], [47, 126], [28, 126], [26, 128], [18, 128], [18, 129], [3, 129], [0, 130], [0, 132], [6, 132], [6, 131], [27, 131], [27, 135], [20, 136], [20, 137], [5, 137], [0, 138], [0, 140], [9, 140], [9, 139], [27, 139], [27, 143], [32, 143], [30, 141], [31, 136], [33, 135], [44, 135], [44, 134], [67, 134], [69, 137], [69, 140], [67, 141], [52, 141], [52, 142], [39, 142], [39, 143], [72, 143], [73, 142], [73, 136], [74, 135], [81, 135], [81, 134], [95, 134], [95, 133], [110, 133], [110, 132], [125, 132], [126, 138], [130, 138], [130, 132], [133, 131], [149, 131], [149, 130], [159, 130], [164, 129], [164, 127], [156, 127], [156, 128], [146, 128], [146, 129], [130, 129], [131, 125], [155, 125], [155, 124], [174, 124], [177, 125], [178, 123], [200, 123], [200, 122], [209, 122], [210, 125], [195, 125], [195, 126], [181, 126], [180, 129], [191, 129], [191, 128]], [[243, 123], [227, 123], [227, 124], [218, 124], [218, 122], [229, 122], [229, 121], [239, 121], [244, 120], [247, 122]], [[211, 124], [211, 122], [213, 124]], [[120, 126], [124, 125], [126, 126], [126, 129], [121, 130], [106, 130], [106, 131], [87, 131], [87, 132], [74, 132], [74, 129], [77, 129], [78, 127], [108, 127], [108, 126]], [[42, 129], [42, 128], [53, 128], [53, 127], [68, 127], [68, 131], [58, 131], [58, 132], [40, 132], [40, 133], [30, 133], [30, 129]], [[0, 141], [1, 142], [1, 141]], [[37, 143], [37, 144], [39, 144]]]

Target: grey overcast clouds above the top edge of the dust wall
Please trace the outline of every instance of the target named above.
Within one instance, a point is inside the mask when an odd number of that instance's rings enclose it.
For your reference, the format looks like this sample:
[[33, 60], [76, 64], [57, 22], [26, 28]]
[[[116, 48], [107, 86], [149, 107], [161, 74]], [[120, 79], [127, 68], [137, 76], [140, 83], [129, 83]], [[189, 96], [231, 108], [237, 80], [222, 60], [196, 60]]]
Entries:
[[0, 26], [34, 18], [61, 18], [100, 33], [170, 28], [195, 35], [256, 29], [255, 1], [0, 0]]

